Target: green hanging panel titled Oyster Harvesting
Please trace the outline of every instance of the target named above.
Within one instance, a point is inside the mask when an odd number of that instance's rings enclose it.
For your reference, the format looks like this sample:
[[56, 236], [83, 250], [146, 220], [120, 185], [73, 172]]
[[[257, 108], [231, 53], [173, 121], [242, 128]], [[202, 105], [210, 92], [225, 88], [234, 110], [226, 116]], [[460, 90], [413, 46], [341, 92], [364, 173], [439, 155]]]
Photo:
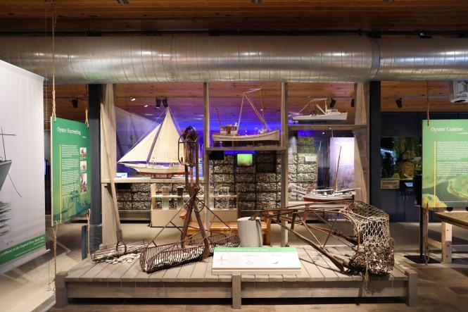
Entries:
[[90, 207], [89, 128], [51, 118], [52, 224], [65, 223]]

